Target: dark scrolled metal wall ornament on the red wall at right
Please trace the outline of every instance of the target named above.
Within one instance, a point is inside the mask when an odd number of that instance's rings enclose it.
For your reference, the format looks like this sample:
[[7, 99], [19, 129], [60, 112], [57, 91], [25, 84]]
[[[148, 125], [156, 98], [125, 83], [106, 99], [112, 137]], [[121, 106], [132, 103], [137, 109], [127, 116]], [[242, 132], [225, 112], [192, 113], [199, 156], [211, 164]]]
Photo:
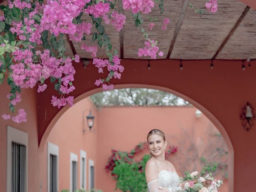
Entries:
[[254, 125], [253, 121], [255, 120], [254, 108], [252, 104], [247, 102], [242, 108], [242, 113], [240, 114], [240, 120], [242, 120], [242, 126], [246, 131], [250, 131]]

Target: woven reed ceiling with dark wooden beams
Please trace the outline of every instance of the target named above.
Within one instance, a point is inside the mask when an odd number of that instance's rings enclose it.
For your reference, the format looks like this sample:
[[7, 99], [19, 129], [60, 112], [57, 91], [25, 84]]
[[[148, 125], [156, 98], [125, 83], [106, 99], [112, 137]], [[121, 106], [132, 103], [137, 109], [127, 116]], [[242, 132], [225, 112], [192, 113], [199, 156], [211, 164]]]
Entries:
[[[195, 7], [204, 8], [205, 0], [193, 0]], [[118, 5], [117, 5], [118, 7]], [[126, 15], [126, 24], [119, 33], [111, 24], [105, 24], [112, 45], [119, 52], [120, 58], [138, 58], [138, 48], [144, 47], [141, 40], [141, 28], [136, 29], [130, 11], [120, 10]], [[142, 26], [147, 28], [148, 18], [158, 18], [150, 39], [158, 40], [164, 57], [171, 59], [255, 59], [256, 58], [256, 10], [237, 0], [218, 0], [218, 11], [208, 10], [201, 16], [194, 13], [189, 0], [164, 0], [164, 13], [160, 14], [158, 3], [152, 13], [143, 15]], [[162, 21], [169, 18], [166, 30], [162, 30]], [[82, 16], [90, 21], [88, 16]], [[92, 34], [95, 30], [92, 30]], [[92, 35], [86, 35], [86, 44], [91, 44]], [[93, 43], [96, 45], [96, 41]], [[81, 50], [81, 43], [66, 40], [67, 55], [79, 54], [81, 58], [92, 58]], [[98, 48], [98, 58], [106, 57]], [[159, 56], [157, 58], [160, 58]], [[161, 59], [162, 59], [161, 58]]]

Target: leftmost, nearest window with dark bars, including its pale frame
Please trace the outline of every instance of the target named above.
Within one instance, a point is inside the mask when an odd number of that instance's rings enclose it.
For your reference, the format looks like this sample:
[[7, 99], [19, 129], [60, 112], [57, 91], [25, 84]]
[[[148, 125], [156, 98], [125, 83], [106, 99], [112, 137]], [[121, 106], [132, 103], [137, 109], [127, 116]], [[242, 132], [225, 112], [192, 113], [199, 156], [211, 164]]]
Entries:
[[28, 191], [28, 134], [7, 126], [6, 191]]

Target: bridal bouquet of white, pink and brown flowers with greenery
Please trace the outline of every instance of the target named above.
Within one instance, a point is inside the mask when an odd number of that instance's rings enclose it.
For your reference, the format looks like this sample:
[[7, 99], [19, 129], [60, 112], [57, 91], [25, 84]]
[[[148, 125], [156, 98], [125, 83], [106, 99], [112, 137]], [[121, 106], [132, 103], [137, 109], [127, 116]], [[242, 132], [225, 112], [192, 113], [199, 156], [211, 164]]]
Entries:
[[197, 177], [198, 172], [186, 171], [185, 177], [180, 178], [182, 184], [182, 192], [217, 192], [217, 188], [223, 184], [222, 180], [216, 180], [212, 177], [212, 173], [208, 173], [205, 177]]

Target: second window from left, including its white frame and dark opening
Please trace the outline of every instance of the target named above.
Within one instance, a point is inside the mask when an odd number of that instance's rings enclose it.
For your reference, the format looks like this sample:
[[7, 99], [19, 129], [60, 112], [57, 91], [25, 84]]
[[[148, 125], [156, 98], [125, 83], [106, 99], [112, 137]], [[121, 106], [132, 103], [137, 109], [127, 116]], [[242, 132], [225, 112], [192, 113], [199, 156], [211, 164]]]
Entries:
[[47, 191], [58, 192], [59, 147], [47, 142]]

